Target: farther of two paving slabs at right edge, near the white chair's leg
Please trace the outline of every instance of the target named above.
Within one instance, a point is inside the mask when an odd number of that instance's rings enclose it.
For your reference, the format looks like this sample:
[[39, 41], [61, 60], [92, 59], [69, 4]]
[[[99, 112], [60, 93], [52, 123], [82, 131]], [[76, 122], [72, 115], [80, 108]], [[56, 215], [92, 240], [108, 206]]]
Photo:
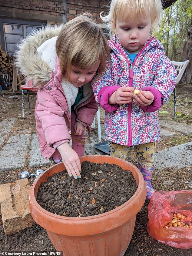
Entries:
[[184, 123], [177, 123], [171, 120], [159, 120], [160, 126], [167, 127], [185, 135], [192, 134], [192, 126]]

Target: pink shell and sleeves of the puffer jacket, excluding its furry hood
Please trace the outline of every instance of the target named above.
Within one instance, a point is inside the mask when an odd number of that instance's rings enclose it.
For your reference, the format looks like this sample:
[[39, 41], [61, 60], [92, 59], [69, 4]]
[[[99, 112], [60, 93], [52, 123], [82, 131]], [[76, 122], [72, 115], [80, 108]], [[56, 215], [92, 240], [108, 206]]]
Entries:
[[[55, 152], [53, 143], [58, 141], [69, 142], [71, 130], [71, 111], [68, 106], [68, 100], [61, 86], [61, 72], [57, 70], [55, 76], [44, 86], [42, 90], [38, 90], [37, 101], [35, 106], [36, 129], [40, 151], [47, 161]], [[86, 92], [84, 85], [83, 93]], [[76, 120], [85, 124], [88, 130], [91, 130], [94, 116], [98, 110], [98, 104], [94, 99], [94, 94], [75, 106]]]

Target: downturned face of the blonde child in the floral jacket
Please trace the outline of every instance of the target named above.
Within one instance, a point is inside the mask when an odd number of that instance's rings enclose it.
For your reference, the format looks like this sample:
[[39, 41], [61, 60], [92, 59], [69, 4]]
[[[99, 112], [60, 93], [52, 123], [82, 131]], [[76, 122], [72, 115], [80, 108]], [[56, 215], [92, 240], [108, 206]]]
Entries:
[[117, 19], [117, 23], [114, 24], [119, 41], [128, 53], [140, 52], [149, 38], [152, 23], [150, 13], [146, 14], [147, 18], [141, 15], [140, 19], [134, 17], [134, 15], [127, 19], [122, 17]]

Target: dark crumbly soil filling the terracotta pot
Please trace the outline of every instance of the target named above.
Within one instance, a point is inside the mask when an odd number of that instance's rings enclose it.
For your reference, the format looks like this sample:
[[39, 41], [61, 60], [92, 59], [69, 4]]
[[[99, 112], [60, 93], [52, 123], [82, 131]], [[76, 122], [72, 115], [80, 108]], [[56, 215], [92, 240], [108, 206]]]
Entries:
[[81, 163], [81, 179], [66, 170], [55, 173], [39, 187], [36, 200], [45, 210], [68, 217], [85, 217], [111, 211], [137, 190], [130, 170], [115, 164]]

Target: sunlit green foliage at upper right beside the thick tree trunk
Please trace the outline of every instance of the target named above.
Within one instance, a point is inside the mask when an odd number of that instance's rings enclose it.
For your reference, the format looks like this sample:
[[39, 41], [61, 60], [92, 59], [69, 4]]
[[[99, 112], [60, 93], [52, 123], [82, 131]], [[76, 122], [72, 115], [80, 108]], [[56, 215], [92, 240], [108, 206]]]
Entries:
[[162, 42], [165, 54], [170, 59], [180, 61], [191, 24], [192, 0], [177, 0], [164, 10], [161, 26], [155, 37]]

